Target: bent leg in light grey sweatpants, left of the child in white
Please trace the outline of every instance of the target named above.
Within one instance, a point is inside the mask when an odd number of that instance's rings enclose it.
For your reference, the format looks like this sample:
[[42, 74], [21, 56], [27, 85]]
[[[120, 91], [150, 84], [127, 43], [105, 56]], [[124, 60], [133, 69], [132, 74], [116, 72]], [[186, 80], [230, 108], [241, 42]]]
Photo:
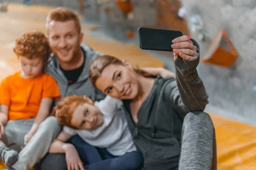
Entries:
[[12, 167], [17, 170], [29, 170], [33, 167], [47, 154], [50, 144], [58, 136], [61, 128], [54, 116], [45, 119], [28, 144], [20, 151], [18, 161]]

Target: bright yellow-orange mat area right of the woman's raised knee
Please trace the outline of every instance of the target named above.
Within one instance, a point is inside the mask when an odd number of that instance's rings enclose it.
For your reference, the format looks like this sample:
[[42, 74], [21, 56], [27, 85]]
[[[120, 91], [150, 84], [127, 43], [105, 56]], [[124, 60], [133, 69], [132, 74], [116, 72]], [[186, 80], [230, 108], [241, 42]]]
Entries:
[[216, 131], [218, 170], [256, 170], [256, 127], [209, 114]]

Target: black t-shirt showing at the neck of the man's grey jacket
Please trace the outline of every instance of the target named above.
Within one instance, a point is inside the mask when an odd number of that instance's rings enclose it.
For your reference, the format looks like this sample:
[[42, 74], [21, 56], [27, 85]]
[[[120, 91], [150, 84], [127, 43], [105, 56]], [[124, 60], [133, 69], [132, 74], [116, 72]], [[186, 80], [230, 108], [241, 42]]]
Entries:
[[86, 59], [86, 53], [85, 51], [82, 49], [83, 53], [84, 53], [84, 62], [83, 64], [79, 67], [76, 68], [74, 70], [64, 70], [63, 68], [61, 68], [61, 71], [64, 73], [65, 77], [67, 78], [67, 82], [69, 85], [73, 84], [74, 82], [77, 81], [78, 77], [80, 76], [80, 74], [82, 73], [83, 69], [84, 69], [84, 63], [85, 63], [85, 59]]

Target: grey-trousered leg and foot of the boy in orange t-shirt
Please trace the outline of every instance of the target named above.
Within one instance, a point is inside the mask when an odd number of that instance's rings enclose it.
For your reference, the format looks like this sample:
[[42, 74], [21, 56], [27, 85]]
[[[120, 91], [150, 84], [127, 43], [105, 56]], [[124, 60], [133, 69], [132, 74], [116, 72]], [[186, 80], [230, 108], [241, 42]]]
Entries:
[[[9, 147], [12, 145], [24, 145], [24, 136], [29, 132], [34, 119], [29, 120], [12, 120], [7, 122], [4, 127], [4, 135], [0, 141], [0, 159], [10, 167], [17, 161], [18, 152]], [[7, 146], [6, 146], [7, 145]]]

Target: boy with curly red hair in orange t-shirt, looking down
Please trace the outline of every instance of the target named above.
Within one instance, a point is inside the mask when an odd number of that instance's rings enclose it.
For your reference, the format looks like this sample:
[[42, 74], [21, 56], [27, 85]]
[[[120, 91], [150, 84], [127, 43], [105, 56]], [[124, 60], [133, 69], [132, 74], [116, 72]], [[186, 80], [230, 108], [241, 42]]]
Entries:
[[0, 86], [0, 159], [8, 167], [15, 163], [18, 153], [7, 146], [23, 147], [29, 142], [49, 116], [53, 102], [60, 98], [57, 83], [44, 73], [50, 55], [44, 34], [22, 34], [16, 39], [14, 52], [21, 71], [3, 79]]

